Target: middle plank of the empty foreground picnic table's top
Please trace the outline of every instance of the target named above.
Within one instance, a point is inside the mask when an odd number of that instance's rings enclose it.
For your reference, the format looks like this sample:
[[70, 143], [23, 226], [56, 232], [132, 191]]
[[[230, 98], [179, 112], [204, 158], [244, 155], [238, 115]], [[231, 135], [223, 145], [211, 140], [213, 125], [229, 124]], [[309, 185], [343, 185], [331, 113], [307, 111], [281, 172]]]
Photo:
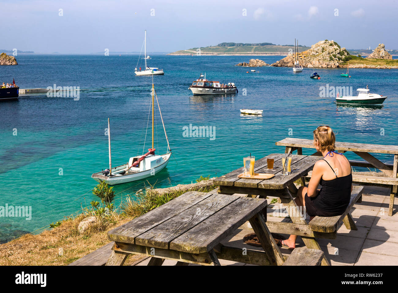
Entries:
[[135, 243], [142, 246], [169, 249], [169, 244], [172, 240], [191, 230], [197, 224], [239, 198], [235, 195], [211, 195], [169, 220], [162, 222], [162, 224], [137, 236]]

